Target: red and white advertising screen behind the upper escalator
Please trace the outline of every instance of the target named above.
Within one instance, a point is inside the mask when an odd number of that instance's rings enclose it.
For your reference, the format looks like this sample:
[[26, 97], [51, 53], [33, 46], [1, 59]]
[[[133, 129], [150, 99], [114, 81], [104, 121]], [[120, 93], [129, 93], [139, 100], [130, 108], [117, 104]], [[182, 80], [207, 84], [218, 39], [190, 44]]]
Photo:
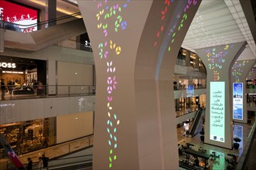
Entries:
[[2, 19], [6, 22], [6, 29], [12, 29], [18, 32], [32, 32], [37, 30], [37, 10], [35, 9], [0, 0], [0, 15], [2, 15]]

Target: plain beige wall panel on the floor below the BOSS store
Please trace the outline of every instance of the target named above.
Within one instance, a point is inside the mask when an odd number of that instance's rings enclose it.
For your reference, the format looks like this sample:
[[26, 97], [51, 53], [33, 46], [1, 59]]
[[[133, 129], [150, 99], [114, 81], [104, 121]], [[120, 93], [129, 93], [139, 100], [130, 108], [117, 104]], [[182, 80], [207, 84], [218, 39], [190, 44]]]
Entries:
[[93, 134], [93, 112], [56, 117], [56, 143]]

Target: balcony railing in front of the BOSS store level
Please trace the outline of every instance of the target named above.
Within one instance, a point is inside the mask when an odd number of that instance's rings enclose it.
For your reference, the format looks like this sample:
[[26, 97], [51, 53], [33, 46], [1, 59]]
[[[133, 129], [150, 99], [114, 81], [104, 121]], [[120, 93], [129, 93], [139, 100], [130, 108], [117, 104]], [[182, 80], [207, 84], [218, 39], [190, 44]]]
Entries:
[[95, 95], [94, 85], [42, 85], [42, 86], [5, 86], [2, 100], [21, 100], [42, 97], [75, 97]]

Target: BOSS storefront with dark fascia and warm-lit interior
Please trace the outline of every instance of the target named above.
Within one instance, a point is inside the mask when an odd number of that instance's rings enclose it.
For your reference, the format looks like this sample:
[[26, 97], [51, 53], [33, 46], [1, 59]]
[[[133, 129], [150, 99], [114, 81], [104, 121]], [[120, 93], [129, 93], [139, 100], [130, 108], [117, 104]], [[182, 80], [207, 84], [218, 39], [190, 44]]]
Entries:
[[0, 78], [9, 94], [35, 94], [38, 80], [46, 84], [46, 61], [0, 56]]

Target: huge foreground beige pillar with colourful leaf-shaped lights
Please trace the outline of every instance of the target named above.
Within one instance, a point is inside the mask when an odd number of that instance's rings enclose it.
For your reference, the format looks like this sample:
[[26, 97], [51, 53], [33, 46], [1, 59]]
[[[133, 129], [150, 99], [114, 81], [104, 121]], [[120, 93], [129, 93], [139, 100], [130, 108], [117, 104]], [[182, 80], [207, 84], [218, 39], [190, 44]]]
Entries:
[[178, 169], [173, 72], [200, 1], [77, 2], [97, 73], [93, 168]]

